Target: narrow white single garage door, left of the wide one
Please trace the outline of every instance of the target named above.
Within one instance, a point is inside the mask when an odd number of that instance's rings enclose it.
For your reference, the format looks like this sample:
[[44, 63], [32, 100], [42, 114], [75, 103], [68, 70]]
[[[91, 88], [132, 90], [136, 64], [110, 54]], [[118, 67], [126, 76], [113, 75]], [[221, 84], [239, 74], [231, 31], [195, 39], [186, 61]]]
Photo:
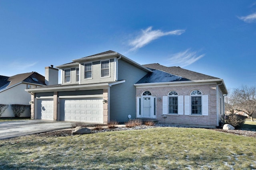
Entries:
[[36, 119], [53, 120], [53, 99], [37, 99]]

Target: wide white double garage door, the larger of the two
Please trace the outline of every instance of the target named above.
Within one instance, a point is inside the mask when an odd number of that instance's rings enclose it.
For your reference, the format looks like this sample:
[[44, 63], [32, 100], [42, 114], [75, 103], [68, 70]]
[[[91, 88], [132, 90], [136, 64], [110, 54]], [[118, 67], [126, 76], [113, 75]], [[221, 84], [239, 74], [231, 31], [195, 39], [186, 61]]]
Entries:
[[60, 120], [103, 123], [102, 97], [60, 99]]

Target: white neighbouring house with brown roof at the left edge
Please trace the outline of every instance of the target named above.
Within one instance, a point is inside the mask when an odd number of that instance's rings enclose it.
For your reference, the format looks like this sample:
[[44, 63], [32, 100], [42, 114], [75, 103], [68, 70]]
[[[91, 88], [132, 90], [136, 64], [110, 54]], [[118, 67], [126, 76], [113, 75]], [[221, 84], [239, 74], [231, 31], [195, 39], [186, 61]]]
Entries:
[[[46, 67], [46, 71], [56, 68]], [[58, 69], [56, 69], [58, 72]], [[49, 72], [49, 71], [48, 71]], [[57, 78], [58, 79], [58, 78]], [[54, 80], [55, 81], [55, 80]], [[40, 86], [45, 86], [49, 81], [45, 82], [44, 76], [37, 72], [28, 72], [17, 74], [15, 76], [0, 76], [0, 104], [9, 105], [2, 113], [1, 117], [14, 117], [11, 104], [29, 105], [31, 95], [25, 89], [34, 89]], [[58, 84], [58, 80], [57, 80]], [[30, 117], [30, 109], [26, 109], [22, 113], [22, 117]]]

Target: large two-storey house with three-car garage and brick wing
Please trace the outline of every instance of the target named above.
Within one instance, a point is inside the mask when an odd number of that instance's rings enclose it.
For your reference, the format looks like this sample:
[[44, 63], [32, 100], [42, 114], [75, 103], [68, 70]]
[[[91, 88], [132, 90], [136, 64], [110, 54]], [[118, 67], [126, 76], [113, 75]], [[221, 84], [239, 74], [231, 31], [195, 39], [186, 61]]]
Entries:
[[56, 66], [61, 84], [27, 89], [32, 119], [90, 123], [152, 119], [216, 127], [224, 81], [180, 67], [140, 65], [106, 51]]

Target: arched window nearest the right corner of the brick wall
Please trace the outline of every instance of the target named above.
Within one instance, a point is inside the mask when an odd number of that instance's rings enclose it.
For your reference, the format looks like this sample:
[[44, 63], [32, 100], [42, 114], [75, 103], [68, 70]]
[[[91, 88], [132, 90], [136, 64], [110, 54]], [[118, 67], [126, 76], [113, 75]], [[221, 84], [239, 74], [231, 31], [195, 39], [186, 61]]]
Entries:
[[199, 90], [191, 92], [191, 114], [202, 115], [202, 93]]

